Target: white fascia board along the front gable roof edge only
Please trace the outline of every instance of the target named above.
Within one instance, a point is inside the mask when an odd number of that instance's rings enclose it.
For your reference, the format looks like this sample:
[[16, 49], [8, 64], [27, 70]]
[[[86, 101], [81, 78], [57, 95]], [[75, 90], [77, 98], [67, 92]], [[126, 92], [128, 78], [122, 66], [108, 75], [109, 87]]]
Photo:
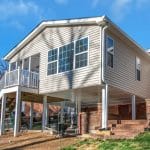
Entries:
[[28, 43], [33, 37], [35, 37], [42, 29], [51, 26], [69, 26], [77, 24], [100, 24], [105, 16], [83, 19], [71, 19], [71, 20], [58, 20], [58, 21], [45, 21], [37, 26], [24, 40], [22, 40], [16, 47], [14, 47], [5, 57], [4, 60], [10, 60], [26, 43]]

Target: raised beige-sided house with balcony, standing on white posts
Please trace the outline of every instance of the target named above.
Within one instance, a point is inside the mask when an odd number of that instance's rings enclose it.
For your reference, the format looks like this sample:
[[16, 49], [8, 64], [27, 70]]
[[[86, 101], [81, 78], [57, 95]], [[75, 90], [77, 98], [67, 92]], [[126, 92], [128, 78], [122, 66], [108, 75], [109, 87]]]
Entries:
[[73, 103], [81, 134], [149, 117], [150, 56], [106, 16], [44, 21], [4, 59], [9, 70], [1, 79], [0, 134], [11, 98], [14, 136], [22, 101], [43, 103], [43, 127], [47, 103]]

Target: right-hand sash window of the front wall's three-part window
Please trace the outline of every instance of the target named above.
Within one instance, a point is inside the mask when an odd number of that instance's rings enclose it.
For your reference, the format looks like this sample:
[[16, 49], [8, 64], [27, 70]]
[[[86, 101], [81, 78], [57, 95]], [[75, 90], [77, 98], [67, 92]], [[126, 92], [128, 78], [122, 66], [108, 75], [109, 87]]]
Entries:
[[75, 68], [87, 66], [88, 62], [88, 38], [76, 41]]

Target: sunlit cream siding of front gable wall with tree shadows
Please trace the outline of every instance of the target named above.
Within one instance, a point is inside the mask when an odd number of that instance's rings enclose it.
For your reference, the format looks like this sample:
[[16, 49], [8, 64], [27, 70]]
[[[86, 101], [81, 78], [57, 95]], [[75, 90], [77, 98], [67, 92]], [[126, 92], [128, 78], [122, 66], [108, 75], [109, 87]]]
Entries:
[[[72, 72], [47, 76], [48, 51], [83, 37], [89, 38], [89, 64]], [[47, 27], [10, 62], [40, 53], [40, 93], [52, 93], [70, 88], [100, 84], [100, 27], [97, 25]]]

